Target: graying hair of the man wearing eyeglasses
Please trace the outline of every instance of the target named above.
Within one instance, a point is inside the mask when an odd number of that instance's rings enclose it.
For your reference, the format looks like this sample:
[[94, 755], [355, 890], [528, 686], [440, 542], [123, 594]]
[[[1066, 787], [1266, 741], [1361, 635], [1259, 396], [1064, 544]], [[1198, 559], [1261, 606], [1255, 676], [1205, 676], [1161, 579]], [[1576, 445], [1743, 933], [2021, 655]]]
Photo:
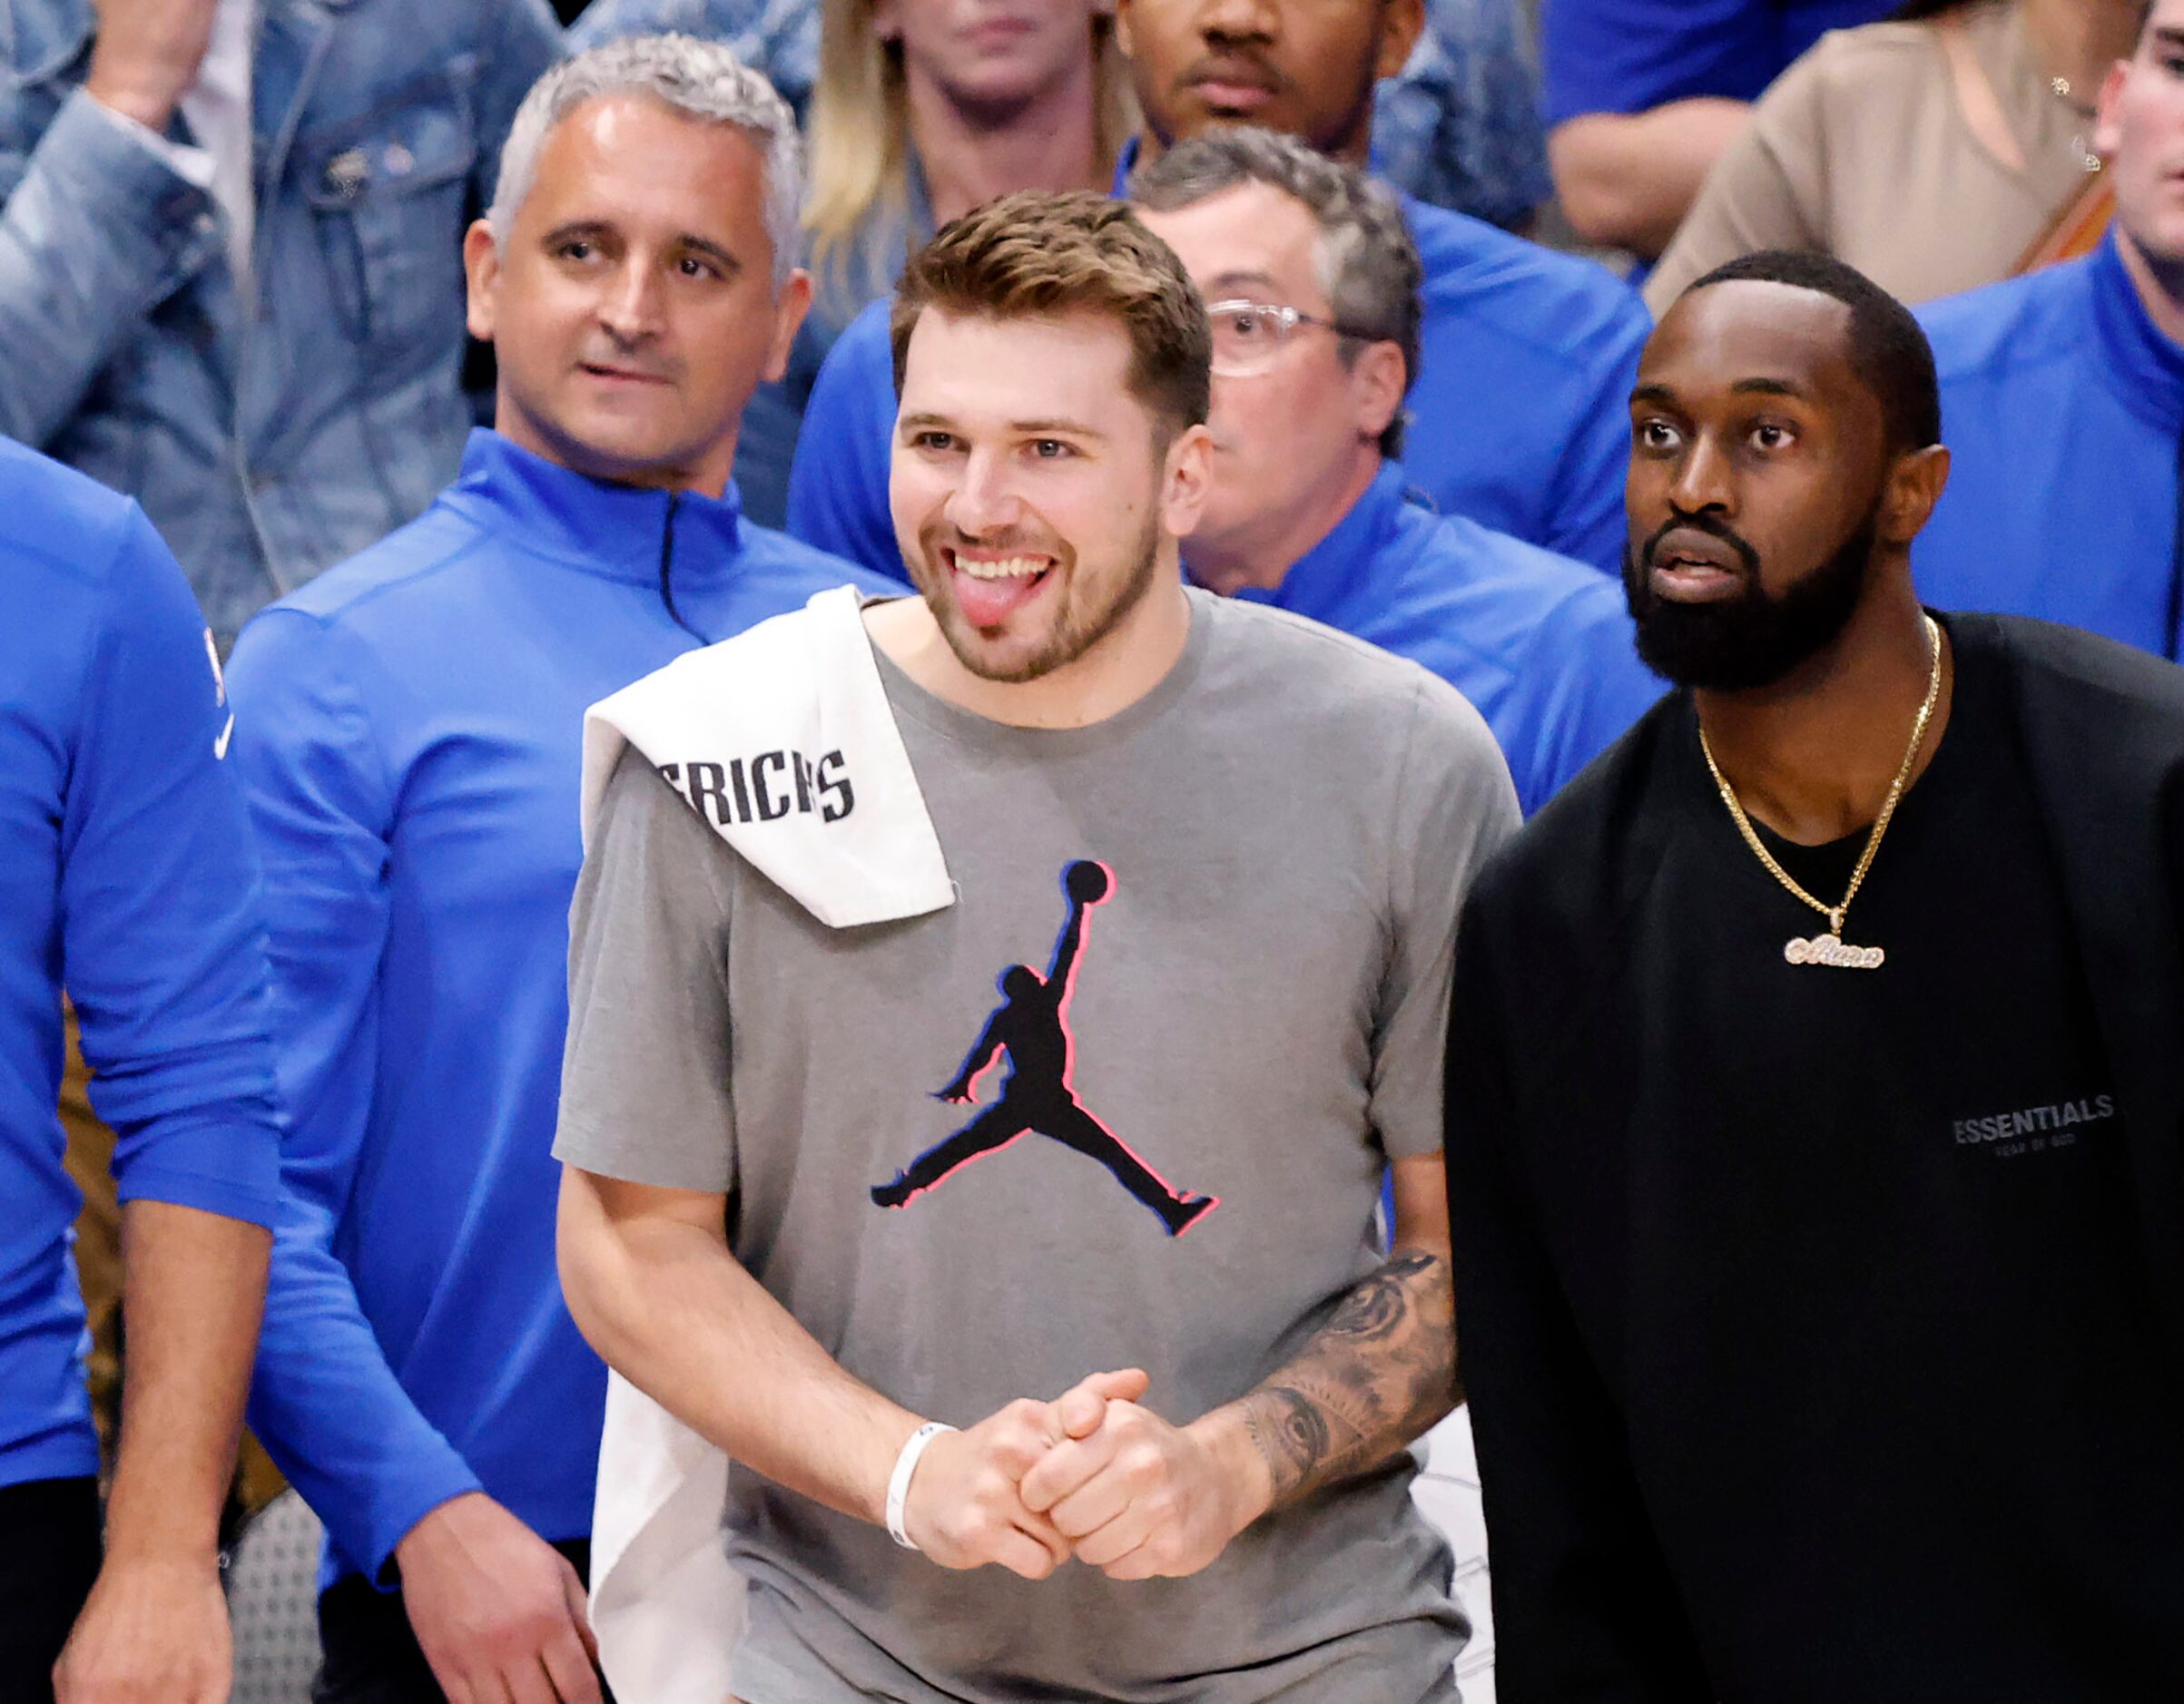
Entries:
[[[1243, 183], [1295, 196], [1319, 220], [1319, 286], [1332, 316], [1356, 334], [1343, 338], [1343, 360], [1356, 360], [1358, 343], [1393, 343], [1402, 349], [1404, 384], [1415, 384], [1424, 266], [1402, 223], [1402, 203], [1365, 172], [1293, 135], [1245, 124], [1177, 142], [1131, 172], [1129, 199], [1168, 214]], [[1380, 434], [1382, 456], [1402, 454], [1402, 423], [1398, 410]]]

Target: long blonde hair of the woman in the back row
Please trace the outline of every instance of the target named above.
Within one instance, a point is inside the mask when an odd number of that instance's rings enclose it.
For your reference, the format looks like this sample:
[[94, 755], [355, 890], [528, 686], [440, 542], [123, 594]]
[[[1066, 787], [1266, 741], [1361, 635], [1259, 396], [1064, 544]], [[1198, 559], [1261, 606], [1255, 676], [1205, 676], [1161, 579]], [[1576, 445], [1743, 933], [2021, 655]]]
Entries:
[[[1114, 39], [1114, 15], [1092, 17], [1092, 146], [1112, 164], [1138, 129], [1129, 68]], [[858, 242], [891, 240], [876, 207], [906, 212], [911, 118], [902, 92], [902, 44], [882, 41], [871, 0], [821, 0], [819, 79], [806, 116], [810, 177], [804, 231], [821, 288], [841, 277]], [[871, 271], [893, 255], [867, 255]]]

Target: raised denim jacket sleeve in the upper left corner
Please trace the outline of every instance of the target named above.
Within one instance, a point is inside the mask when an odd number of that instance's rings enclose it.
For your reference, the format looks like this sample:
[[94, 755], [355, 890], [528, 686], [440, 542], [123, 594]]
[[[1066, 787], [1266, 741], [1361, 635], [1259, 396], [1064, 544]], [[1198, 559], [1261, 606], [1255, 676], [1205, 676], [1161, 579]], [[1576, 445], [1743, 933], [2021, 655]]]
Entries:
[[[0, 85], [0, 100], [26, 103]], [[83, 89], [9, 151], [0, 124], [0, 432], [46, 445], [114, 351], [221, 253], [212, 199]]]

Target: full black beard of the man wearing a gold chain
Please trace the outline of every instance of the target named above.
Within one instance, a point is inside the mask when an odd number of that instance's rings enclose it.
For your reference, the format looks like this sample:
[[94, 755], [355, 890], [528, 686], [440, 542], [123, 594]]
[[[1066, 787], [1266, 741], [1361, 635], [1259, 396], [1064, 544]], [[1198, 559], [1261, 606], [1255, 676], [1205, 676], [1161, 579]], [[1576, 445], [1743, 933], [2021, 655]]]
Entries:
[[[1876, 504], [1828, 561], [1773, 598], [1760, 587], [1758, 552], [1710, 515], [1671, 519], [1645, 548], [1631, 539], [1623, 548], [1623, 596], [1638, 624], [1638, 661], [1679, 687], [1771, 687], [1850, 624], [1865, 593], [1878, 521]], [[1671, 530], [1686, 526], [1721, 539], [1738, 554], [1743, 591], [1706, 604], [1677, 604], [1653, 591], [1647, 569], [1653, 550]]]

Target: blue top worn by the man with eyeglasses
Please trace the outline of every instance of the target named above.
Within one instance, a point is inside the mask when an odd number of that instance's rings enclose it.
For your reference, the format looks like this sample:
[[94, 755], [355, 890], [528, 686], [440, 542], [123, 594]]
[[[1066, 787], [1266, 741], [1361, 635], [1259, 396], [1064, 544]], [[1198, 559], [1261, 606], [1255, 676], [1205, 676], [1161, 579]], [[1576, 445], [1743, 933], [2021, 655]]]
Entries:
[[1531, 816], [1666, 687], [1638, 661], [1616, 583], [1461, 515], [1433, 515], [1406, 500], [1406, 480], [1382, 465], [1282, 585], [1236, 596], [1439, 674], [1487, 720]]

